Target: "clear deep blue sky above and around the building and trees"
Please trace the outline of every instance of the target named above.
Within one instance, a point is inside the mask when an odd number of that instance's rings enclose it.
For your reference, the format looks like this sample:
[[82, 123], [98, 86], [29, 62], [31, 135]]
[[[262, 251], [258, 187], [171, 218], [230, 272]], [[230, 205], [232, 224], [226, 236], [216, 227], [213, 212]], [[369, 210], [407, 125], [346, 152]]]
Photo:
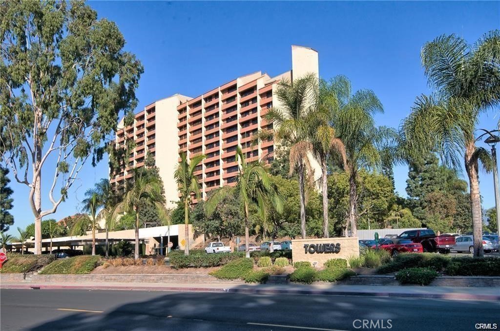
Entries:
[[[319, 52], [323, 78], [344, 74], [354, 89], [371, 88], [385, 112], [380, 125], [397, 127], [415, 96], [428, 93], [420, 48], [443, 33], [474, 42], [500, 27], [500, 2], [88, 2], [99, 17], [115, 21], [136, 54], [144, 74], [136, 93], [137, 110], [182, 93], [197, 96], [239, 75], [261, 70], [279, 74], [291, 67], [291, 44]], [[482, 116], [478, 127], [492, 129], [498, 109]], [[404, 194], [407, 168], [394, 169], [396, 191]], [[43, 189], [52, 176], [47, 172]], [[86, 164], [68, 199], [45, 218], [60, 219], [81, 208], [85, 190], [107, 177], [107, 161]], [[48, 180], [47, 180], [48, 179]], [[16, 226], [33, 221], [27, 189], [14, 189]], [[480, 173], [483, 207], [494, 205], [492, 176]], [[47, 194], [42, 195], [43, 207]]]

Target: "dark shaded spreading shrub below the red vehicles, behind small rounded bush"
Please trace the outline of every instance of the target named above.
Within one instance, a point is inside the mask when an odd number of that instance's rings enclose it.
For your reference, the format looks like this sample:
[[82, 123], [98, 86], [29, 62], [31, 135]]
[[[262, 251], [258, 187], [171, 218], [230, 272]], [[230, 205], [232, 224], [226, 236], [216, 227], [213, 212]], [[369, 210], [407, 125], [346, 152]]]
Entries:
[[449, 256], [438, 253], [402, 253], [396, 255], [389, 263], [380, 266], [377, 273], [389, 273], [411, 267], [426, 267], [442, 271], [449, 262]]

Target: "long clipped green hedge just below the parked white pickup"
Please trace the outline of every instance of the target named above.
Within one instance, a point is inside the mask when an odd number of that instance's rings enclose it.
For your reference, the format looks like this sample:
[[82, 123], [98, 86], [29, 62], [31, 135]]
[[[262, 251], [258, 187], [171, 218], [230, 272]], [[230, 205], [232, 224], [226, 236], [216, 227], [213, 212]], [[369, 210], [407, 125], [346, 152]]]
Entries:
[[188, 267], [209, 267], [209, 266], [219, 266], [224, 265], [229, 261], [241, 258], [244, 256], [244, 252], [235, 253], [217, 253], [217, 254], [206, 254], [189, 253], [185, 256], [184, 253], [169, 254], [170, 265], [173, 268], [188, 268]]

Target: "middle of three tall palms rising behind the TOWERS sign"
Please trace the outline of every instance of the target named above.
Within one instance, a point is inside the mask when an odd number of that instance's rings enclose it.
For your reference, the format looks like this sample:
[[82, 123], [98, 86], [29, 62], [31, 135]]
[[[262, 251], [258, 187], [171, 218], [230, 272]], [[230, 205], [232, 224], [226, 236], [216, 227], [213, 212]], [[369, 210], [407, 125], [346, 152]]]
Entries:
[[321, 191], [323, 195], [323, 237], [329, 237], [328, 230], [328, 165], [329, 154], [335, 154], [346, 168], [345, 146], [338, 138], [335, 128], [331, 125], [333, 115], [339, 111], [336, 93], [331, 93], [328, 84], [321, 81], [319, 88], [319, 100], [314, 110], [316, 121], [310, 125], [310, 139], [312, 142], [312, 153], [321, 166]]

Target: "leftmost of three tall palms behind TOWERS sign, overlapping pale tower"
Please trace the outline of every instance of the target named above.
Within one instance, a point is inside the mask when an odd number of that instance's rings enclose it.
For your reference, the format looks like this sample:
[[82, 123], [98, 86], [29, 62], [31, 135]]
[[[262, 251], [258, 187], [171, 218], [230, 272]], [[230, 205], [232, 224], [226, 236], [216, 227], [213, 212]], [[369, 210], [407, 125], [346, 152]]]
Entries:
[[318, 78], [308, 74], [290, 82], [282, 80], [276, 89], [280, 106], [274, 105], [265, 114], [265, 119], [273, 122], [272, 132], [262, 131], [259, 138], [272, 136], [274, 141], [290, 146], [290, 172], [298, 174], [300, 193], [300, 233], [305, 238], [305, 181], [312, 184], [313, 169], [309, 161], [312, 152], [310, 142], [311, 123], [316, 122], [314, 115], [317, 100]]

